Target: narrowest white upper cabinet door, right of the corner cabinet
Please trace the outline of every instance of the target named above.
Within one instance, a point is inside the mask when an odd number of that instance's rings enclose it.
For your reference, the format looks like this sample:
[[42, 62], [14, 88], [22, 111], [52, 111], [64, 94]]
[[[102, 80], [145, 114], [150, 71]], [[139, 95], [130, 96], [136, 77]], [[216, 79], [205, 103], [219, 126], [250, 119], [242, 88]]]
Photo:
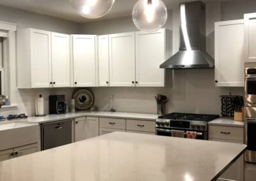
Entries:
[[99, 86], [109, 86], [109, 38], [99, 36]]

